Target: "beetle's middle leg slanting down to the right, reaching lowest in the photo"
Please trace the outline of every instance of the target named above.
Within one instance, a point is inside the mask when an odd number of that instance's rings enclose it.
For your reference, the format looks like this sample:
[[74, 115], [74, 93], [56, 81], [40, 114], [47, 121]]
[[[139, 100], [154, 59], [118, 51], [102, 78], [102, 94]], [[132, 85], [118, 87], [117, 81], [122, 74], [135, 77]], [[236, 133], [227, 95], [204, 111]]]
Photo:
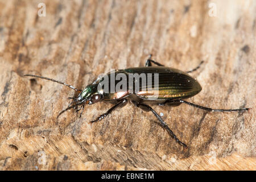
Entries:
[[148, 110], [152, 111], [152, 113], [155, 115], [156, 118], [158, 118], [158, 121], [160, 121], [160, 124], [165, 127], [167, 129], [167, 131], [171, 134], [171, 137], [174, 138], [176, 140], [177, 143], [179, 143], [181, 146], [188, 148], [187, 145], [185, 143], [182, 143], [177, 137], [176, 135], [172, 132], [172, 130], [168, 127], [168, 125], [166, 124], [166, 122], [163, 121], [163, 119], [160, 117], [160, 115], [158, 113], [156, 113], [156, 111], [154, 109], [152, 109], [152, 107], [146, 105], [146, 104], [141, 104], [138, 103], [136, 105], [137, 107], [143, 106], [143, 107], [147, 107]]

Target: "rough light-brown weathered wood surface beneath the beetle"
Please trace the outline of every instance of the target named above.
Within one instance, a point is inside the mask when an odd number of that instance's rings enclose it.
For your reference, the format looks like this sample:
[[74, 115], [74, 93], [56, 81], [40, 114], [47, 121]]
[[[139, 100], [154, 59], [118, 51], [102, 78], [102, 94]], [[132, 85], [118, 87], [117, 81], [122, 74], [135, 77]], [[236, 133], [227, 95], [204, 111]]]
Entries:
[[[0, 1], [0, 169], [255, 170], [255, 1], [44, 1], [38, 16], [40, 2]], [[205, 61], [191, 74], [203, 90], [188, 101], [252, 109], [153, 105], [184, 150], [130, 103], [94, 124], [111, 104], [56, 119], [77, 93], [22, 77], [82, 89], [110, 69], [143, 66], [150, 53], [183, 71]]]

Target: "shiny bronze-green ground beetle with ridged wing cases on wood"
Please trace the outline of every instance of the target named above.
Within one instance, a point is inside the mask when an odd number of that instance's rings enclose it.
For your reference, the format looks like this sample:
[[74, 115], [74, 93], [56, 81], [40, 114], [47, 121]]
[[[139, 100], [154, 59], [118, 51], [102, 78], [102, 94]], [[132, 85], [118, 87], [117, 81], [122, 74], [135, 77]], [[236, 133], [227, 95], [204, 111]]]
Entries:
[[[145, 75], [151, 75], [150, 77], [147, 77], [148, 80], [153, 80], [152, 75], [154, 74], [154, 78], [158, 77], [158, 80], [152, 81], [154, 83], [154, 88], [152, 85], [148, 87], [144, 86], [143, 89], [143, 83], [142, 79], [135, 78], [131, 81], [132, 85], [131, 89], [125, 88], [125, 90], [114, 90], [114, 92], [105, 92], [105, 87], [111, 86], [110, 82], [113, 82], [111, 80], [112, 78], [112, 72], [107, 73], [104, 77], [98, 77], [96, 81], [94, 81], [92, 84], [89, 84], [85, 87], [84, 90], [76, 89], [74, 86], [65, 84], [64, 82], [54, 80], [52, 78], [42, 77], [42, 76], [36, 76], [36, 75], [24, 75], [24, 76], [30, 76], [30, 77], [37, 77], [37, 78], [43, 78], [46, 80], [50, 80], [53, 82], [57, 82], [59, 84], [63, 84], [65, 86], [68, 86], [69, 88], [76, 90], [77, 92], [80, 92], [77, 97], [69, 97], [69, 99], [72, 99], [73, 101], [68, 105], [66, 109], [61, 111], [59, 115], [57, 115], [57, 118], [64, 113], [65, 111], [69, 109], [75, 109], [76, 111], [79, 111], [82, 109], [84, 110], [85, 105], [92, 105], [96, 104], [100, 101], [108, 101], [112, 102], [114, 106], [112, 106], [106, 113], [101, 114], [99, 117], [97, 117], [95, 120], [91, 121], [97, 122], [104, 119], [107, 115], [109, 115], [113, 110], [115, 110], [119, 106], [123, 106], [127, 103], [128, 100], [130, 100], [135, 106], [140, 107], [144, 111], [151, 111], [155, 117], [158, 119], [160, 124], [169, 132], [172, 138], [176, 140], [177, 143], [179, 143], [184, 148], [187, 148], [187, 145], [183, 142], [181, 142], [174, 132], [168, 127], [166, 122], [163, 121], [163, 119], [160, 117], [158, 113], [154, 109], [152, 109], [151, 106], [148, 104], [158, 104], [158, 105], [180, 105], [181, 103], [185, 103], [188, 105], [191, 105], [193, 107], [197, 107], [199, 109], [207, 110], [207, 111], [214, 111], [214, 112], [231, 112], [231, 111], [242, 111], [242, 110], [249, 110], [249, 108], [241, 108], [241, 109], [212, 109], [209, 107], [204, 107], [200, 105], [193, 104], [191, 102], [185, 101], [185, 98], [193, 97], [197, 93], [201, 91], [201, 85], [199, 82], [197, 82], [194, 78], [188, 75], [188, 73], [191, 73], [193, 71], [196, 71], [200, 68], [200, 65], [204, 62], [201, 61], [199, 66], [197, 66], [195, 69], [192, 69], [188, 72], [180, 71], [179, 69], [174, 68], [168, 68], [164, 67], [164, 65], [154, 61], [151, 59], [150, 55], [148, 59], [146, 60], [145, 67], [137, 67], [137, 68], [127, 68], [127, 69], [116, 69], [114, 71], [114, 77], [116, 77], [118, 74], [122, 74], [122, 76], [128, 76], [129, 74], [145, 74]], [[153, 67], [152, 63], [156, 66]], [[104, 79], [103, 79], [104, 78]], [[101, 85], [103, 81], [107, 81], [104, 85], [104, 89]], [[129, 80], [130, 81], [130, 80]], [[128, 83], [128, 81], [125, 81]], [[139, 88], [138, 90], [135, 90], [133, 88], [133, 85], [135, 82], [139, 82]], [[114, 86], [118, 84], [117, 80], [114, 79]], [[156, 86], [155, 86], [156, 84]], [[99, 85], [101, 88], [99, 89]], [[146, 88], [146, 89], [145, 89]], [[157, 88], [157, 89], [156, 89]], [[80, 107], [80, 108], [79, 108]], [[80, 113], [80, 118], [82, 115], [82, 111]]]

